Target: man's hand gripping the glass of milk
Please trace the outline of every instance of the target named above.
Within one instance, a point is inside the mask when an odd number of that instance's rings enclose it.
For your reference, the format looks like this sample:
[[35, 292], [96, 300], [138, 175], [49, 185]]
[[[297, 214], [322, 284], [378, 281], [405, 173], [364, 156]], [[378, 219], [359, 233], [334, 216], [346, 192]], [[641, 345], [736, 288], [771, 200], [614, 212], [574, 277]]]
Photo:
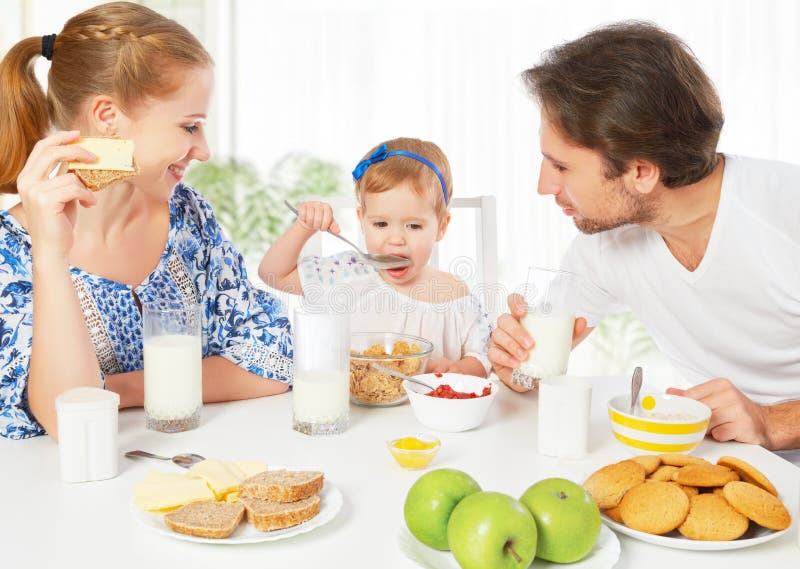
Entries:
[[[497, 328], [492, 332], [492, 343], [489, 347], [489, 361], [497, 377], [514, 391], [528, 391], [527, 388], [511, 382], [511, 372], [528, 359], [529, 352], [536, 345], [530, 334], [522, 327], [520, 320], [527, 313], [525, 301], [518, 294], [508, 297], [510, 314], [503, 314], [497, 319]], [[572, 330], [572, 347], [589, 335], [592, 328], [586, 326], [585, 318], [576, 318]]]

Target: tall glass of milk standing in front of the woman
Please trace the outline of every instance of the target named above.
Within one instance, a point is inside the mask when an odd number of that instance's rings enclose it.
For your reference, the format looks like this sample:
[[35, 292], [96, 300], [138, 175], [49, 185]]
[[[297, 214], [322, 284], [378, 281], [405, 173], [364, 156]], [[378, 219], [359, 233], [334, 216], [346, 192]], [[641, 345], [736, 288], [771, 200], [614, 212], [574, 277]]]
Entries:
[[188, 431], [203, 407], [203, 340], [199, 304], [161, 300], [142, 306], [144, 416], [148, 429]]

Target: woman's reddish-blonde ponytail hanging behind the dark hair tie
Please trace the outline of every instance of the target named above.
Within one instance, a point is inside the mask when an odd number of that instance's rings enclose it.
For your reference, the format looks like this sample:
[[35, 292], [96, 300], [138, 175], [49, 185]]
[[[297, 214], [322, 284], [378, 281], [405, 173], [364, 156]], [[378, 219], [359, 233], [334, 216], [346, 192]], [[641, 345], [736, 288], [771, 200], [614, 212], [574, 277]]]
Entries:
[[34, 64], [40, 37], [17, 43], [0, 61], [0, 193], [17, 192], [17, 176], [36, 142], [50, 131], [47, 98]]

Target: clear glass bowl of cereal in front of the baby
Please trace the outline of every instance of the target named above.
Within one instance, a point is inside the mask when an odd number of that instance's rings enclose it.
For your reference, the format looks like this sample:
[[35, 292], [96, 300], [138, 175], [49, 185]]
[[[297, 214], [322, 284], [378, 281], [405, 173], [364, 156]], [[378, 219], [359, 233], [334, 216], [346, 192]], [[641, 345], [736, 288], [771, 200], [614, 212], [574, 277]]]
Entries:
[[393, 332], [356, 332], [350, 337], [350, 400], [359, 405], [398, 405], [408, 396], [403, 380], [376, 370], [375, 363], [405, 375], [425, 372], [433, 344]]

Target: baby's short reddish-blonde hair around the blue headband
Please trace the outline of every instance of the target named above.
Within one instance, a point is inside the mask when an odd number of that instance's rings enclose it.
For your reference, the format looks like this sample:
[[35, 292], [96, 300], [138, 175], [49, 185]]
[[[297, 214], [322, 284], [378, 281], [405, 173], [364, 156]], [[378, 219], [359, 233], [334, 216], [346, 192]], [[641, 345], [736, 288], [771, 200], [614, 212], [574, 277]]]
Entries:
[[431, 196], [433, 209], [441, 220], [447, 215], [448, 207], [453, 195], [453, 179], [450, 173], [450, 162], [442, 149], [433, 142], [418, 138], [395, 138], [387, 140], [370, 149], [361, 159], [366, 160], [382, 144], [386, 144], [388, 151], [405, 150], [418, 154], [432, 162], [442, 173], [447, 186], [447, 200], [439, 177], [427, 165], [407, 156], [390, 156], [381, 162], [370, 164], [364, 175], [355, 184], [356, 199], [361, 209], [366, 209], [364, 196], [366, 194], [379, 194], [404, 183], [408, 183], [419, 196]]

